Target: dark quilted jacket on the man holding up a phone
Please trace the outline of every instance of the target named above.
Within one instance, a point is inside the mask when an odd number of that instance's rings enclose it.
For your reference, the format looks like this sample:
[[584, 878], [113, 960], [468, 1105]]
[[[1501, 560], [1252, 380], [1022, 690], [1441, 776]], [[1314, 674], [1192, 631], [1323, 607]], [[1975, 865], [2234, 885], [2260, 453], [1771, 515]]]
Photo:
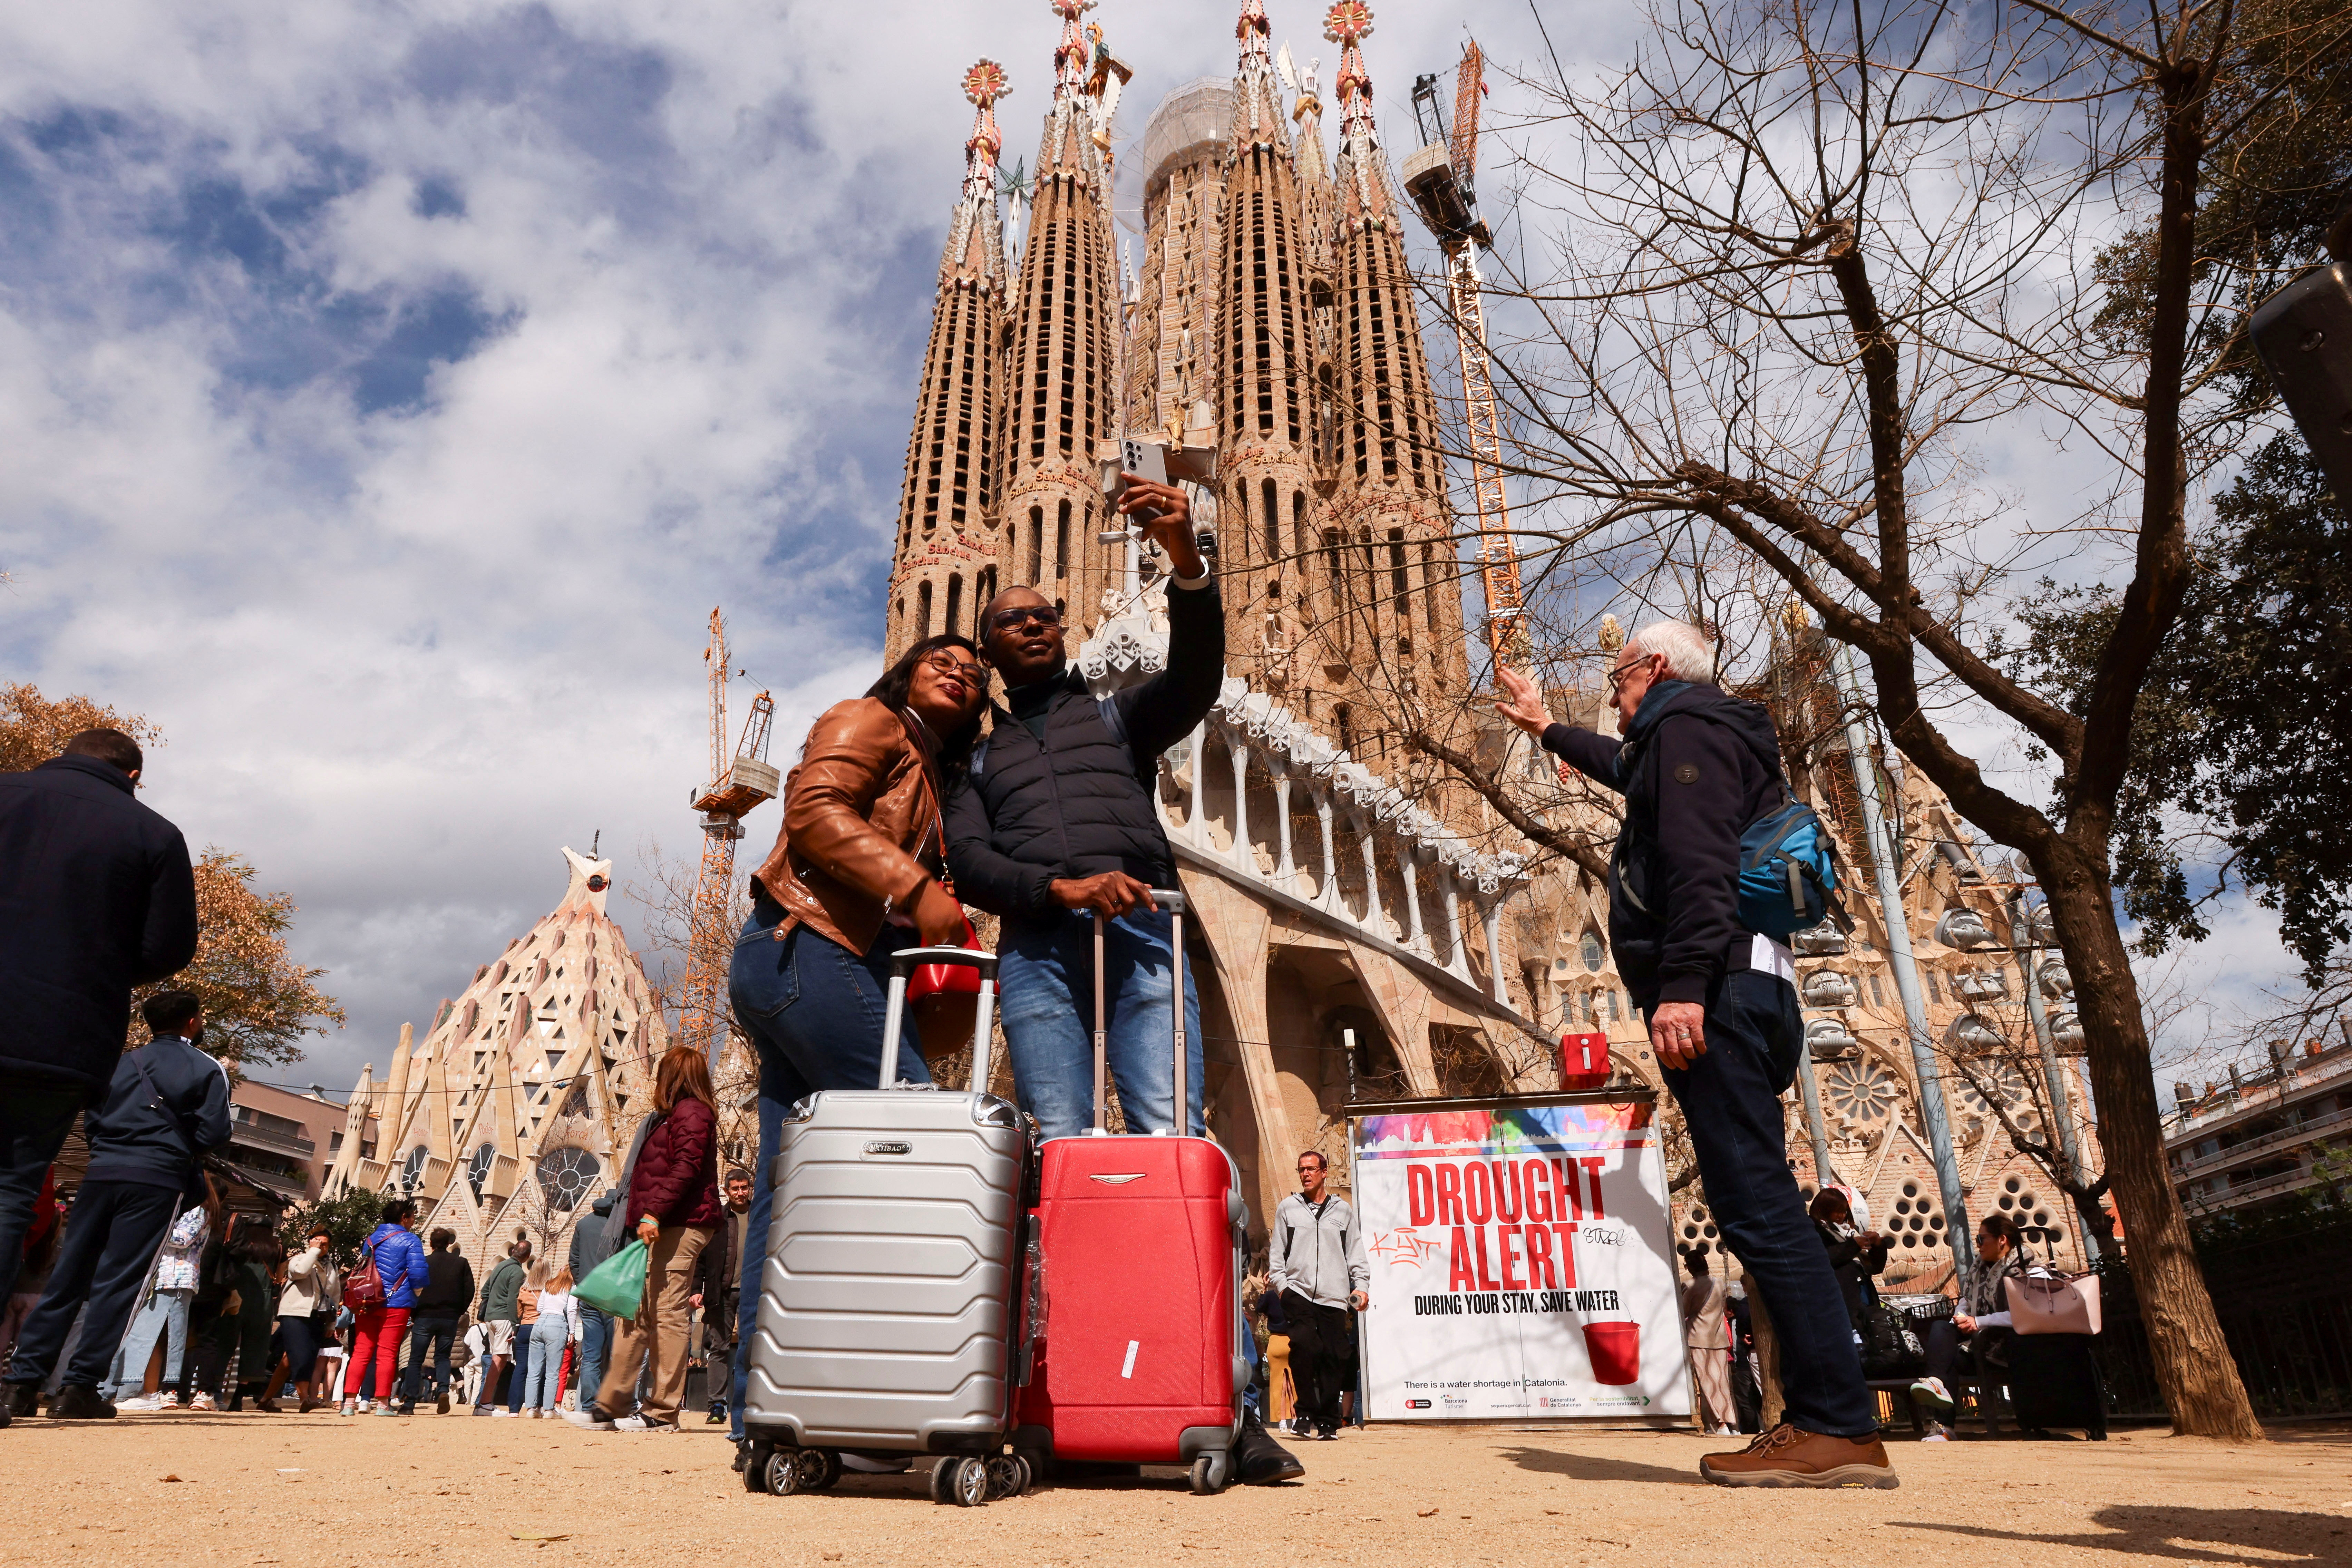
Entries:
[[[1009, 917], [1058, 917], [1056, 877], [1127, 872], [1174, 886], [1160, 827], [1160, 752], [1209, 717], [1225, 684], [1225, 607], [1216, 583], [1169, 588], [1169, 665], [1096, 701], [1077, 670], [1044, 712], [1044, 741], [995, 710], [971, 771], [948, 795], [955, 896]], [[1200, 766], [1200, 759], [1192, 764]]]

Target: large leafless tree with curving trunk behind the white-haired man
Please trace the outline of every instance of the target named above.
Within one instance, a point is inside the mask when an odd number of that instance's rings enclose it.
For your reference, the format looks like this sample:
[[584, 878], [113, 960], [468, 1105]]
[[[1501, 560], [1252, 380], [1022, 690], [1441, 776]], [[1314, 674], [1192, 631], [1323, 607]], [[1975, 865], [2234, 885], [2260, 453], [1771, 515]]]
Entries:
[[[2277, 26], [2300, 33], [2265, 38], [2272, 52], [2343, 42], [2333, 19]], [[1729, 541], [1860, 654], [1910, 764], [2023, 853], [2077, 983], [2173, 1422], [2253, 1439], [2166, 1180], [2110, 896], [2133, 703], [2192, 571], [2185, 510], [2225, 456], [2211, 433], [2241, 416], [2201, 346], [2230, 339], [2213, 324], [2244, 299], [2192, 244], [2206, 146], [2260, 113], [2216, 108], [2241, 47], [2232, 0], [1661, 0], [1623, 73], [1522, 80], [1534, 240], [1498, 259], [1512, 299], [1491, 320], [1531, 571]], [[2145, 261], [2117, 256], [2124, 235]], [[2126, 268], [2119, 308], [2107, 284]], [[2089, 503], [2027, 520], [1983, 482], [1987, 425], [2063, 451]], [[2065, 705], [2002, 668], [1994, 595], [2096, 552], [2131, 581]], [[1987, 726], [2056, 764], [2046, 804], [1987, 776]]]

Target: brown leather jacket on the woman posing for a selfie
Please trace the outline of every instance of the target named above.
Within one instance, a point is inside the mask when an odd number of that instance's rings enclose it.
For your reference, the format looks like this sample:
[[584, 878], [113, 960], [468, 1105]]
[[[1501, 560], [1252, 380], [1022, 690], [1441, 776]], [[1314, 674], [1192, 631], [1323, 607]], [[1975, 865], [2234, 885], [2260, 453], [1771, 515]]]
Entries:
[[938, 795], [922, 731], [870, 696], [828, 708], [783, 780], [783, 830], [760, 886], [783, 905], [776, 940], [807, 924], [849, 952], [882, 933], [938, 872]]

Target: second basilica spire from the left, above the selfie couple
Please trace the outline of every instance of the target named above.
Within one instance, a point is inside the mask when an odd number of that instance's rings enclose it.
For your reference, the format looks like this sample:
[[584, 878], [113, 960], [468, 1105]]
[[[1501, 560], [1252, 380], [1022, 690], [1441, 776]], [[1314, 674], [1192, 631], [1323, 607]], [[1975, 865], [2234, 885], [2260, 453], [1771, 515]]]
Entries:
[[1096, 451], [1120, 437], [1120, 296], [1108, 214], [1115, 87], [1108, 52], [1096, 61], [1098, 40], [1077, 26], [1089, 9], [1094, 0], [1054, 0], [1061, 45], [1014, 296], [997, 548], [1002, 581], [1030, 583], [1054, 599], [1070, 621], [1073, 646], [1103, 614], [1103, 590], [1115, 581], [1110, 552], [1096, 543], [1103, 527]]

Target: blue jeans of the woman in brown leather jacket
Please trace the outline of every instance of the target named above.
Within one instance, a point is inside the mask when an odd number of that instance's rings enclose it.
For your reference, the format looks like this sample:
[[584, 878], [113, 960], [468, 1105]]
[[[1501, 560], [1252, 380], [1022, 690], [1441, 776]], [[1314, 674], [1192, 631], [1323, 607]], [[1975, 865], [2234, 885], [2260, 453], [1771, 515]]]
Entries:
[[[727, 999], [736, 1027], [760, 1053], [760, 1161], [750, 1171], [750, 1218], [743, 1222], [743, 1298], [736, 1307], [734, 1399], [729, 1432], [743, 1439], [743, 1392], [750, 1380], [750, 1326], [760, 1316], [760, 1269], [767, 1267], [767, 1222], [776, 1138], [795, 1100], [821, 1088], [875, 1088], [882, 1079], [882, 1016], [889, 954], [917, 943], [913, 931], [884, 926], [863, 957], [840, 943], [793, 926], [774, 931], [783, 910], [760, 898], [736, 938]], [[898, 1034], [898, 1081], [929, 1084], [913, 1020]]]

